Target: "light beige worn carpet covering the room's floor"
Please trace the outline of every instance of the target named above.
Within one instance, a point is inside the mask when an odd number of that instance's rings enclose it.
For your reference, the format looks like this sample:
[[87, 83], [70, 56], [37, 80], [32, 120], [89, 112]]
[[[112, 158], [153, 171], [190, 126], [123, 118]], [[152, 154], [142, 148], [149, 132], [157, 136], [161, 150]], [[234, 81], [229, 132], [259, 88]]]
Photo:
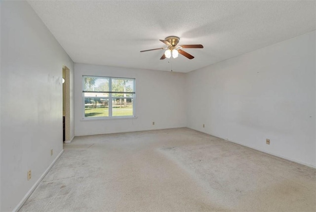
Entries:
[[316, 170], [188, 128], [76, 137], [21, 212], [316, 211]]

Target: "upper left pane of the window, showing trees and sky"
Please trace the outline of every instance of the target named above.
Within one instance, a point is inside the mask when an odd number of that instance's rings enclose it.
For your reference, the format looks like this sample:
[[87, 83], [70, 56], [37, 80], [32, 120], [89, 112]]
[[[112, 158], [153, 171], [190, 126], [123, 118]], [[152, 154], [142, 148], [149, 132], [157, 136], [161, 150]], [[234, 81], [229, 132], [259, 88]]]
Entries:
[[85, 91], [109, 91], [109, 78], [83, 77], [83, 90]]

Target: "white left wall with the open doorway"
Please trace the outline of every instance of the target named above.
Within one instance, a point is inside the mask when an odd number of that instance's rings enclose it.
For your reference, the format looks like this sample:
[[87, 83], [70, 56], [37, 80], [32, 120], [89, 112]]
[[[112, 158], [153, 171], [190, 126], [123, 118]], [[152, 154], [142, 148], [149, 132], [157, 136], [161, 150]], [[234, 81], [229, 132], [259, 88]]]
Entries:
[[[17, 209], [62, 152], [62, 68], [66, 65], [73, 76], [74, 63], [26, 1], [1, 1], [0, 7], [0, 211], [4, 212]], [[30, 181], [28, 170], [32, 170]]]

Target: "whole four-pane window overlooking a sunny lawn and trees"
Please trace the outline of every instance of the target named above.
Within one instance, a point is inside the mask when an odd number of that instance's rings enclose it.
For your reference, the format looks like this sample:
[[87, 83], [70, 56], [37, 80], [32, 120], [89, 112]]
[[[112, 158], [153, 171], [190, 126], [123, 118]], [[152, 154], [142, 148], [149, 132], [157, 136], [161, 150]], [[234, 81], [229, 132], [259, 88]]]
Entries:
[[135, 116], [135, 79], [82, 76], [83, 119]]

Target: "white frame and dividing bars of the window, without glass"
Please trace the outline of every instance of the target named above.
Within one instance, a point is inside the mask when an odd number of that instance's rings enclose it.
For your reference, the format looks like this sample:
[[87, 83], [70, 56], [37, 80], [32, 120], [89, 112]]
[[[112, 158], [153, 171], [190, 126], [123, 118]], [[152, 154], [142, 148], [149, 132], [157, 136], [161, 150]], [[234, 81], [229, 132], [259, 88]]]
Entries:
[[[109, 80], [109, 91], [102, 91], [102, 93], [109, 93], [109, 97], [102, 97], [105, 99], [108, 99], [108, 106], [109, 106], [109, 116], [100, 116], [100, 117], [85, 117], [85, 98], [87, 96], [84, 96], [85, 92], [89, 93], [100, 93], [101, 91], [85, 91], [84, 90], [84, 78], [91, 77], [91, 78], [100, 78], [100, 79], [108, 79]], [[133, 92], [125, 92], [127, 94], [133, 94], [132, 97], [112, 97], [112, 93], [122, 93], [122, 92], [116, 92], [112, 91], [112, 80], [117, 79], [117, 80], [133, 80]], [[98, 119], [125, 119], [125, 118], [135, 118], [135, 99], [136, 99], [136, 79], [135, 78], [123, 78], [123, 77], [103, 77], [103, 76], [91, 76], [91, 75], [82, 75], [82, 119], [83, 120], [98, 120]], [[89, 97], [88, 97], [89, 98]], [[94, 96], [91, 96], [90, 98], [95, 98]], [[133, 115], [132, 116], [113, 116], [112, 114], [112, 101], [113, 99], [132, 99], [133, 102]]]

